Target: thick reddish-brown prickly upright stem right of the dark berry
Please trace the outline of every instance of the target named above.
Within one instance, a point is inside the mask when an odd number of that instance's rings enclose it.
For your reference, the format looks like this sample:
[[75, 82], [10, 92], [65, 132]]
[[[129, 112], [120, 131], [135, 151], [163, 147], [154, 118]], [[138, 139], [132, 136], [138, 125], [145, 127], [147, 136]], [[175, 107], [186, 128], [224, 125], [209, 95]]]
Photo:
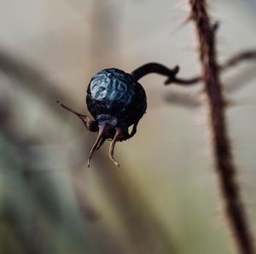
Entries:
[[[216, 61], [215, 36], [207, 14], [207, 4], [205, 0], [189, 0], [189, 3], [191, 18], [195, 22], [199, 40], [202, 77], [209, 101], [213, 152], [225, 211], [240, 253], [253, 254], [255, 253], [253, 235], [249, 229], [245, 209], [241, 202], [240, 189], [236, 182], [236, 166], [232, 159], [224, 115], [224, 96]], [[234, 62], [236, 61], [231, 61], [231, 65]]]

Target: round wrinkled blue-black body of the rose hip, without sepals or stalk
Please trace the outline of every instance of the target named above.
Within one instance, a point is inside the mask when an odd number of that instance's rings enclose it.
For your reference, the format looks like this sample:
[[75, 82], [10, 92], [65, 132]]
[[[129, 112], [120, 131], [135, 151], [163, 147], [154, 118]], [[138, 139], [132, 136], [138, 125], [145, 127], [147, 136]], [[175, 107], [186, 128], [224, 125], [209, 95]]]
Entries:
[[143, 86], [129, 73], [105, 69], [91, 78], [86, 96], [87, 107], [94, 118], [110, 115], [120, 124], [135, 124], [147, 108]]

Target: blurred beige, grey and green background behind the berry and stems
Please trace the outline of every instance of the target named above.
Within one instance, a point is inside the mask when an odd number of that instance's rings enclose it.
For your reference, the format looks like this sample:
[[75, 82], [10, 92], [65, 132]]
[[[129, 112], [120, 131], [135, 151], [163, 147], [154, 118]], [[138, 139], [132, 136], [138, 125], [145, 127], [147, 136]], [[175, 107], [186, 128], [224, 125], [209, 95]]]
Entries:
[[[211, 1], [223, 62], [256, 48], [256, 3]], [[1, 1], [0, 253], [236, 253], [213, 169], [202, 86], [141, 80], [148, 110], [137, 135], [109, 142], [90, 169], [96, 139], [59, 100], [88, 113], [99, 70], [150, 61], [200, 73], [194, 27], [176, 0]], [[239, 182], [256, 231], [256, 63], [222, 75]], [[254, 213], [254, 214], [253, 214]], [[256, 234], [255, 234], [256, 235]]]

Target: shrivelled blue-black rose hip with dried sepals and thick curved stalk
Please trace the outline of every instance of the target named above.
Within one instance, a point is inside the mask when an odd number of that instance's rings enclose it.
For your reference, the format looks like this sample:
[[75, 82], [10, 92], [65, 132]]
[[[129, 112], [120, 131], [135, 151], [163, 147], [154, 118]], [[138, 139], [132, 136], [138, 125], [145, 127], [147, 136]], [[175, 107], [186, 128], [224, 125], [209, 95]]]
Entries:
[[[109, 147], [109, 158], [119, 166], [113, 158], [115, 144], [117, 141], [128, 140], [137, 133], [137, 124], [147, 109], [147, 96], [138, 80], [152, 72], [166, 75], [168, 77], [166, 84], [169, 84], [175, 79], [178, 66], [168, 69], [157, 63], [148, 63], [131, 74], [116, 68], [96, 73], [90, 80], [86, 95], [86, 104], [93, 118], [56, 101], [61, 107], [77, 115], [87, 130], [98, 133], [96, 142], [90, 150], [88, 167], [92, 155], [106, 140], [112, 141]], [[131, 133], [128, 130], [130, 126], [132, 126]]]

